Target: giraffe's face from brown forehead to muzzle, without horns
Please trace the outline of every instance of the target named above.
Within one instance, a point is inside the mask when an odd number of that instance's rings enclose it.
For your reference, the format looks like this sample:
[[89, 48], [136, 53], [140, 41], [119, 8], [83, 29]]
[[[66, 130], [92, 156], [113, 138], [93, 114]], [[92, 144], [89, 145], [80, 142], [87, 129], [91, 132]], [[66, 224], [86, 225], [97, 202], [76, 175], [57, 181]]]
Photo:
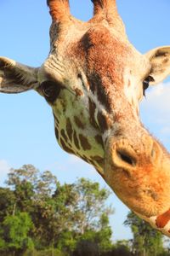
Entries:
[[107, 26], [81, 28], [73, 42], [65, 42], [63, 55], [54, 42], [57, 51], [41, 71], [60, 88], [50, 102], [59, 144], [92, 164], [133, 211], [156, 216], [170, 207], [169, 156], [141, 124], [139, 101], [165, 68], [162, 62], [169, 63], [167, 49], [150, 58]]

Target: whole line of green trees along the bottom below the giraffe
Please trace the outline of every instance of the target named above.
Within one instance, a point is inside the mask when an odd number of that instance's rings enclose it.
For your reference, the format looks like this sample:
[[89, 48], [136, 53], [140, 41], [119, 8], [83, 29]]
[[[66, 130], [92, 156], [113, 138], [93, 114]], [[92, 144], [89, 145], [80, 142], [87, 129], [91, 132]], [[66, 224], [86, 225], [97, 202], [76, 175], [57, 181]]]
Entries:
[[113, 242], [109, 195], [85, 178], [61, 185], [51, 172], [31, 165], [11, 169], [6, 187], [0, 188], [0, 255], [170, 255], [161, 233], [132, 212], [125, 225], [133, 240]]

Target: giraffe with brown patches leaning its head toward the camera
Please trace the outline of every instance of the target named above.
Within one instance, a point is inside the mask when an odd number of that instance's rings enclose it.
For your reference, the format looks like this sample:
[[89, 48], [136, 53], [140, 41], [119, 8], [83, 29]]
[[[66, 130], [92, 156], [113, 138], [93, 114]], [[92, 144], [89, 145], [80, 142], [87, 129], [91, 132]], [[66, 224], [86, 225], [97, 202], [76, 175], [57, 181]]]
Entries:
[[0, 57], [0, 91], [43, 96], [60, 147], [94, 166], [127, 207], [170, 236], [170, 156], [139, 118], [145, 90], [170, 74], [170, 46], [140, 54], [116, 0], [92, 2], [94, 16], [82, 22], [69, 0], [48, 0], [48, 58], [34, 68]]

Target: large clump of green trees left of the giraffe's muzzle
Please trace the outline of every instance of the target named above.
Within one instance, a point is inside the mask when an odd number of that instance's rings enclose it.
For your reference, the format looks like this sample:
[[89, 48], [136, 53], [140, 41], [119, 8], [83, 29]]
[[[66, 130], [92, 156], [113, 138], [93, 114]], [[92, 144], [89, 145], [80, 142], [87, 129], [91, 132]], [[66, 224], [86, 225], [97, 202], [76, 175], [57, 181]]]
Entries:
[[90, 247], [94, 243], [101, 252], [111, 248], [109, 215], [113, 210], [105, 205], [110, 192], [100, 189], [99, 183], [82, 178], [61, 185], [51, 172], [41, 173], [29, 165], [11, 169], [7, 184], [10, 189], [0, 189], [6, 198], [0, 202], [5, 209], [2, 250], [31, 254], [34, 249], [35, 255], [36, 250], [42, 253], [48, 248], [54, 253], [56, 248], [71, 255], [81, 241]]

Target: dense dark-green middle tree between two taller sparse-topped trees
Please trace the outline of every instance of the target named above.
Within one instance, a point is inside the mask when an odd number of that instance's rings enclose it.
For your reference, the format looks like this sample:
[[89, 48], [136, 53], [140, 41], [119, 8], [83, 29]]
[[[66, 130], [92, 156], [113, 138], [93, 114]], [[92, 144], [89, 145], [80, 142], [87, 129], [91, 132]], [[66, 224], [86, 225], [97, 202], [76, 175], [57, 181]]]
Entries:
[[72, 185], [60, 185], [57, 182], [54, 195], [43, 194], [43, 191], [42, 189], [42, 194], [38, 195], [41, 200], [34, 201], [35, 208], [31, 215], [36, 227], [35, 235], [45, 247], [48, 245], [61, 247], [64, 237], [67, 236], [66, 232], [73, 230], [75, 217], [72, 209], [75, 197]]

